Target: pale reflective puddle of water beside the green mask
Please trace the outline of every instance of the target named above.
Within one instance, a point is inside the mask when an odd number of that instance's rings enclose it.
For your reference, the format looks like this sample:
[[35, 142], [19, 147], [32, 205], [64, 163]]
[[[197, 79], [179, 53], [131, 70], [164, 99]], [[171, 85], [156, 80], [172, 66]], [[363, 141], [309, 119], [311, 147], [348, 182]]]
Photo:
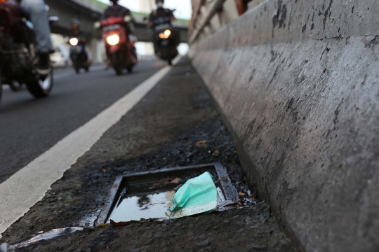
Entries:
[[171, 198], [174, 194], [174, 191], [131, 197], [121, 194], [107, 223], [110, 220], [120, 222], [139, 221], [141, 218], [164, 218], [167, 209], [172, 206]]

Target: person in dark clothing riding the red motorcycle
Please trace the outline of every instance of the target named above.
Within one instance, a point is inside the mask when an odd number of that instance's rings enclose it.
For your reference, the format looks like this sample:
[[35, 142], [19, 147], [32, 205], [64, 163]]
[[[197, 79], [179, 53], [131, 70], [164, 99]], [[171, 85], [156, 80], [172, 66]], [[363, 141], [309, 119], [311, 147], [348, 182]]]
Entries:
[[[133, 34], [134, 25], [133, 25], [133, 15], [131, 14], [131, 10], [129, 10], [128, 8], [125, 8], [124, 6], [120, 6], [118, 3], [119, 0], [110, 0], [110, 2], [112, 3], [112, 6], [109, 6], [105, 10], [105, 12], [102, 14], [101, 20], [105, 20], [105, 19], [111, 18], [111, 17], [130, 16], [132, 22], [128, 22], [128, 24], [125, 26], [125, 29], [126, 29], [127, 33], [129, 34], [128, 41], [129, 42], [135, 42], [136, 38]], [[131, 61], [133, 63], [137, 63], [137, 59], [134, 56], [135, 55], [135, 48], [131, 47], [130, 50], [131, 50]], [[108, 60], [107, 60], [106, 69], [109, 69], [109, 67], [111, 66], [111, 62], [109, 59], [109, 52], [108, 51], [107, 51], [107, 59]]]

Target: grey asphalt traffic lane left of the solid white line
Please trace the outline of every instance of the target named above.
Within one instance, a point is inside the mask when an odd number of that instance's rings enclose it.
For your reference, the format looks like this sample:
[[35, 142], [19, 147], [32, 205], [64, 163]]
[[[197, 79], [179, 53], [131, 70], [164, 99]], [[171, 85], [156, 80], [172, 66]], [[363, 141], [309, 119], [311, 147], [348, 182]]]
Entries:
[[34, 99], [26, 88], [12, 92], [4, 86], [0, 183], [165, 65], [161, 61], [140, 62], [133, 74], [123, 76], [116, 76], [112, 69], [104, 71], [104, 66], [93, 66], [90, 73], [79, 75], [73, 69], [58, 69], [53, 92], [46, 99]]

